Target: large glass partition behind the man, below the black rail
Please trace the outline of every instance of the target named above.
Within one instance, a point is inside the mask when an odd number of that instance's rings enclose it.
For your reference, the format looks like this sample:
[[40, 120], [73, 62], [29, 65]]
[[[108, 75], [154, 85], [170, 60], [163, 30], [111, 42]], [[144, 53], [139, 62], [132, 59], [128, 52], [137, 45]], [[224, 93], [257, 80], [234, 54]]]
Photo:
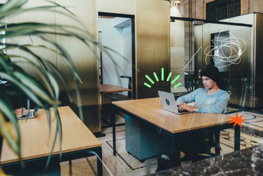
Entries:
[[228, 108], [252, 107], [252, 27], [184, 20], [171, 21], [171, 72], [182, 83], [171, 84], [171, 93], [179, 97], [203, 87], [199, 77], [213, 64], [220, 72], [218, 86], [230, 94]]

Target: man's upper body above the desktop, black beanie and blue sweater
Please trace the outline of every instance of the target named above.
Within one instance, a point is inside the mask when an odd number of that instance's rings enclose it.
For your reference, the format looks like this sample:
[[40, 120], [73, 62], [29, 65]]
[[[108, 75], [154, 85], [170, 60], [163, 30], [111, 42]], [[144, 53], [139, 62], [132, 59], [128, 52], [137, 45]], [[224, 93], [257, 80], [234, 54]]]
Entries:
[[[227, 92], [218, 88], [218, 68], [208, 65], [202, 73], [202, 81], [205, 88], [196, 89], [176, 100], [179, 110], [199, 113], [223, 113], [230, 96]], [[186, 103], [191, 102], [195, 102], [194, 107], [186, 105]]]

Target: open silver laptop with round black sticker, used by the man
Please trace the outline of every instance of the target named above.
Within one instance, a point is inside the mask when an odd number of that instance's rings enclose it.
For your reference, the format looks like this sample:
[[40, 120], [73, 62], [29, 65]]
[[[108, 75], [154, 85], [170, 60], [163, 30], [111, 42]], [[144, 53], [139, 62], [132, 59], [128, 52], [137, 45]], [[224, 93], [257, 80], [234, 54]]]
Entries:
[[179, 111], [179, 107], [177, 107], [174, 94], [162, 92], [158, 90], [158, 94], [161, 100], [161, 104], [164, 110], [168, 110], [170, 112], [176, 113], [176, 114], [186, 114], [191, 113], [187, 110]]

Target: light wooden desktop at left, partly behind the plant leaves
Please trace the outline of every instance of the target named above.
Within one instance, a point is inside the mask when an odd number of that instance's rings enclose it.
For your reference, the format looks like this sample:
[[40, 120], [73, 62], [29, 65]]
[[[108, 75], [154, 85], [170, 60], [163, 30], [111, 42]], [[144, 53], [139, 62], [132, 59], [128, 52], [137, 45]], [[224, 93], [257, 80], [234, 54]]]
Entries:
[[[68, 107], [58, 108], [62, 125], [62, 153], [101, 146], [101, 142], [85, 126], [78, 116]], [[51, 133], [44, 109], [39, 109], [36, 118], [18, 120], [21, 131], [21, 157], [22, 160], [48, 156], [54, 139], [56, 119], [51, 112]], [[7, 122], [11, 132], [14, 128]], [[57, 139], [53, 154], [59, 154], [59, 141]], [[18, 157], [8, 147], [4, 140], [1, 151], [0, 164], [19, 161]]]

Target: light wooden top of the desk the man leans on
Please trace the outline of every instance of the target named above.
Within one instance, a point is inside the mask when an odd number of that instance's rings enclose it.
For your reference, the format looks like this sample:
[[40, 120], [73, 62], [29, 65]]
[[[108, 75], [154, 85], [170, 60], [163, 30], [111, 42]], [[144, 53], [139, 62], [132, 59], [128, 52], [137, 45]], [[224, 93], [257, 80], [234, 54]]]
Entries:
[[164, 110], [160, 98], [147, 98], [112, 102], [112, 104], [129, 111], [171, 133], [229, 123], [229, 115], [208, 113], [175, 114]]

